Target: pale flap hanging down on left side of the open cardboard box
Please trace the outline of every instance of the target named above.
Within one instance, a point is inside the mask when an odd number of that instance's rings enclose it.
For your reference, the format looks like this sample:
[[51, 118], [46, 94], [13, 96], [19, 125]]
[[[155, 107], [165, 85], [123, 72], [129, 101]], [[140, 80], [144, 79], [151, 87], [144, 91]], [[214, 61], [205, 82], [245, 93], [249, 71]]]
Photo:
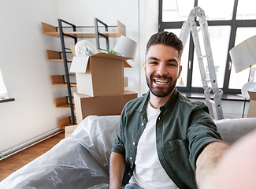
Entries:
[[69, 72], [85, 73], [88, 62], [89, 57], [73, 57]]

